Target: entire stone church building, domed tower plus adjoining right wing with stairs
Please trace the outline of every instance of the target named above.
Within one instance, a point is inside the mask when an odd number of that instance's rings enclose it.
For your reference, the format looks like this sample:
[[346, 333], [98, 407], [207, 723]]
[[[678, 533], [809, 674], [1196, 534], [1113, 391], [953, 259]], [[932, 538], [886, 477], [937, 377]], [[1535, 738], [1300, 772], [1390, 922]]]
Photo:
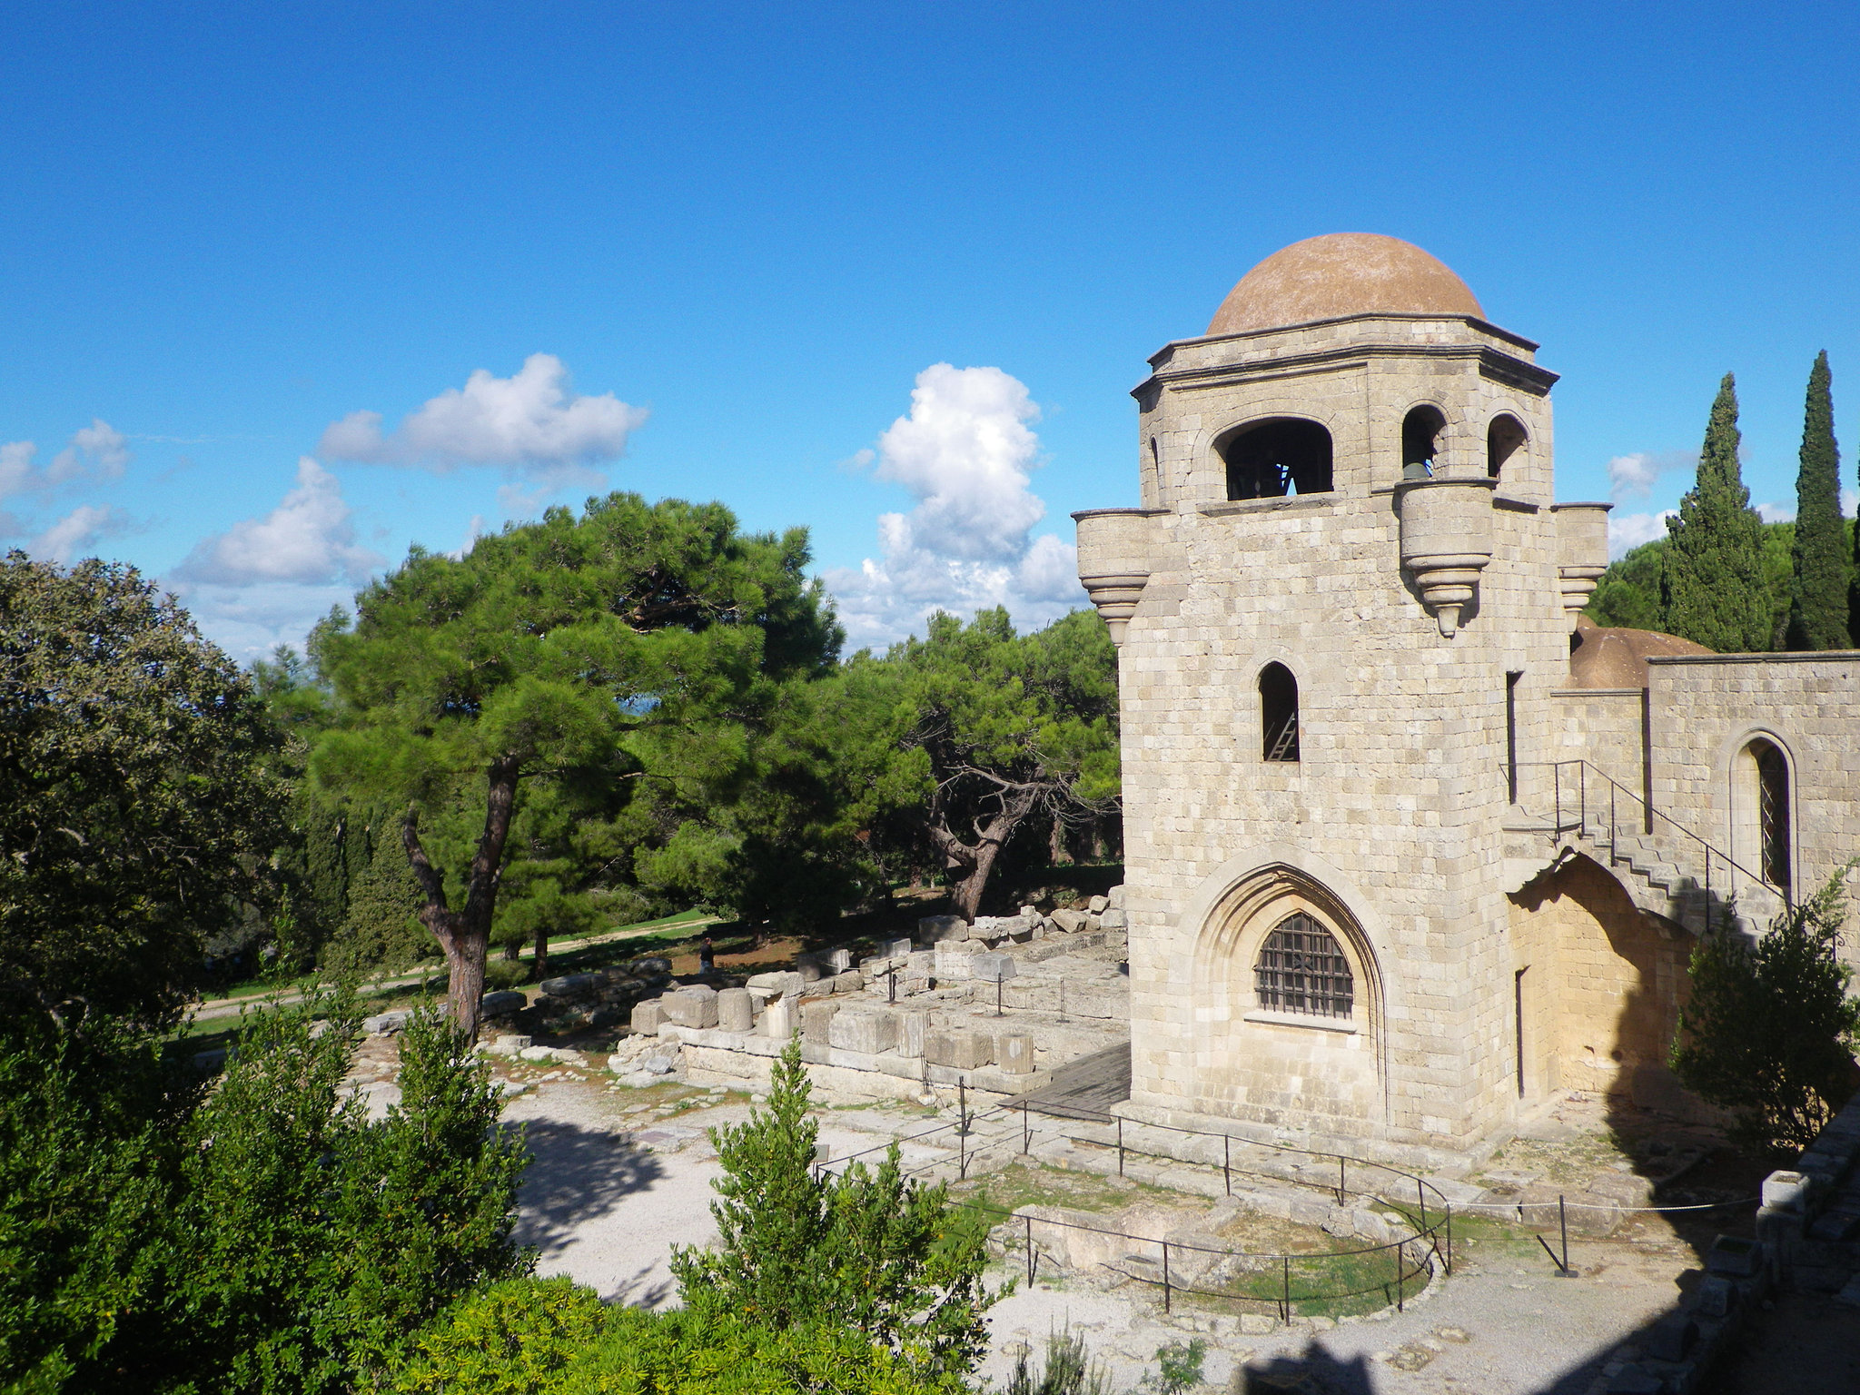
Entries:
[[1555, 498], [1536, 348], [1337, 234], [1149, 359], [1142, 506], [1075, 515], [1120, 651], [1131, 1114], [1428, 1159], [1562, 1090], [1681, 1107], [1707, 917], [1761, 930], [1860, 852], [1860, 653], [1581, 619], [1609, 506]]

